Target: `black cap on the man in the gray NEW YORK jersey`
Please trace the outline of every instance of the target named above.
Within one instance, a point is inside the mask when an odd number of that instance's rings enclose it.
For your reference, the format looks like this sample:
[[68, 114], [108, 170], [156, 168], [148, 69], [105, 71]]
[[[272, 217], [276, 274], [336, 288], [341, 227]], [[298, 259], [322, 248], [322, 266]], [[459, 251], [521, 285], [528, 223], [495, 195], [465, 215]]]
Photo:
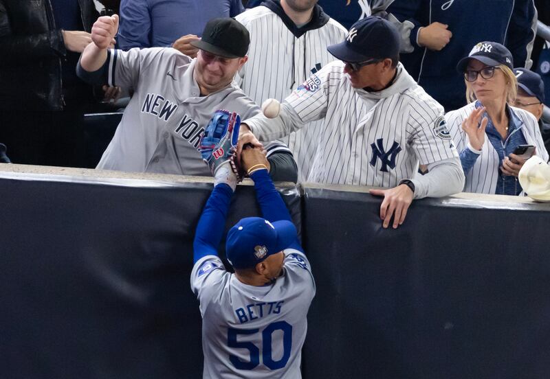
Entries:
[[212, 19], [206, 23], [201, 39], [191, 41], [191, 45], [224, 58], [241, 58], [248, 51], [250, 34], [235, 19]]

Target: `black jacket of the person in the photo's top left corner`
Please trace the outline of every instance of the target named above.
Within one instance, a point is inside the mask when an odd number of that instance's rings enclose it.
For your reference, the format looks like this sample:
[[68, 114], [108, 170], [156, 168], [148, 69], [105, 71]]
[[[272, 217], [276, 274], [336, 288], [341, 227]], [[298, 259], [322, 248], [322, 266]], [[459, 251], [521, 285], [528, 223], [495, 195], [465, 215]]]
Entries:
[[[90, 32], [97, 18], [94, 3], [78, 3]], [[50, 0], [0, 0], [0, 110], [61, 110], [66, 54]]]

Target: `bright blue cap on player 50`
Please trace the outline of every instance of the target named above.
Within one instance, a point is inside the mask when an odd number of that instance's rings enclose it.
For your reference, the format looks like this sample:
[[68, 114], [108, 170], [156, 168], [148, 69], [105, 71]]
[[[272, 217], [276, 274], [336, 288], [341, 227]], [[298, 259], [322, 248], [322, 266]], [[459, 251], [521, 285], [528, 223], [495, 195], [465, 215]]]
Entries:
[[269, 222], [247, 217], [229, 230], [225, 254], [234, 268], [250, 268], [287, 249], [296, 238], [296, 227], [288, 220]]

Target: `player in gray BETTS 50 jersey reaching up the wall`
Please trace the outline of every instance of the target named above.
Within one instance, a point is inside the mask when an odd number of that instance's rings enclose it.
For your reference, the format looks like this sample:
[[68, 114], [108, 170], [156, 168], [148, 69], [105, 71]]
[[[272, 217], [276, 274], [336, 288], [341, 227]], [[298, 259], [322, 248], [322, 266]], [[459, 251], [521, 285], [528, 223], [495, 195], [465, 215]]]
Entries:
[[195, 233], [190, 282], [203, 319], [203, 378], [301, 378], [314, 277], [265, 157], [248, 148], [242, 159], [264, 218], [243, 218], [228, 232], [234, 274], [217, 253], [236, 183], [226, 179], [230, 169], [214, 174]]

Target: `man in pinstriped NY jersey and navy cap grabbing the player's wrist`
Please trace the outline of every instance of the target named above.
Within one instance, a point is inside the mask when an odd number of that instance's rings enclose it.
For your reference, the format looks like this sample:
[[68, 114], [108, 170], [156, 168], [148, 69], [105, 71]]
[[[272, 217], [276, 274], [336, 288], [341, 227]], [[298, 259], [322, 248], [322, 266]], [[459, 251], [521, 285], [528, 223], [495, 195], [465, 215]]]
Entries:
[[[279, 138], [324, 119], [309, 175], [319, 183], [373, 185], [384, 196], [380, 217], [397, 228], [413, 198], [447, 196], [463, 188], [456, 149], [443, 108], [399, 63], [399, 33], [388, 21], [366, 17], [344, 41], [329, 46], [339, 58], [311, 76], [281, 104], [278, 117], [243, 122], [260, 139]], [[248, 126], [248, 128], [247, 128]], [[239, 145], [257, 143], [243, 133]], [[416, 176], [419, 163], [428, 174]]]

